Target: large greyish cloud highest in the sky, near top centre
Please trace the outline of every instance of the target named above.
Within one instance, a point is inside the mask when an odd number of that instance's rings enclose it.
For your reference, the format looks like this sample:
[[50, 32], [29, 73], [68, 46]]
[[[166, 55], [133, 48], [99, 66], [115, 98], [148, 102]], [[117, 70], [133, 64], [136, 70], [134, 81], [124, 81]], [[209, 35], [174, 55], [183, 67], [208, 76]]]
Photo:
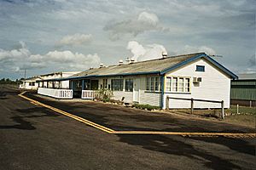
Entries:
[[160, 20], [156, 14], [142, 12], [135, 18], [109, 22], [103, 30], [110, 32], [111, 40], [117, 40], [126, 34], [136, 37], [144, 31], [165, 31], [167, 29], [160, 26]]

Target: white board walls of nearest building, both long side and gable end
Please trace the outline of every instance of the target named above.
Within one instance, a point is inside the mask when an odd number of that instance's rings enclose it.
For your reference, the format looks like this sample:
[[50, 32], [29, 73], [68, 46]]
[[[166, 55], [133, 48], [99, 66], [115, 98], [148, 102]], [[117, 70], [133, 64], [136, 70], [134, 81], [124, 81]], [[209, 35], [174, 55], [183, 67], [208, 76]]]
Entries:
[[[205, 71], [195, 71], [196, 65], [204, 65]], [[133, 78], [134, 87], [139, 84], [138, 91], [138, 103], [157, 105], [161, 106], [161, 93], [160, 92], [149, 92], [146, 90], [146, 77], [159, 77], [160, 76], [131, 76], [122, 77]], [[206, 59], [199, 59], [189, 65], [184, 65], [179, 67], [175, 71], [170, 71], [166, 73], [166, 77], [190, 77], [190, 92], [189, 93], [175, 93], [168, 92], [165, 89], [163, 95], [163, 109], [166, 109], [166, 97], [176, 97], [184, 99], [209, 99], [209, 100], [224, 100], [224, 107], [230, 107], [230, 77], [226, 76], [222, 71], [218, 70], [217, 67], [213, 66]], [[199, 83], [193, 83], [193, 77], [201, 77], [202, 81]], [[111, 84], [111, 79], [120, 77], [105, 77], [108, 78], [108, 84]], [[99, 88], [102, 84], [102, 78], [99, 78]], [[113, 99], [122, 99], [125, 97], [125, 102], [132, 103], [134, 101], [134, 93], [125, 92], [125, 81], [124, 81], [123, 91], [114, 91]], [[166, 86], [165, 86], [166, 87]], [[220, 108], [219, 103], [208, 103], [195, 101], [195, 108]], [[179, 109], [179, 108], [190, 108], [190, 101], [188, 100], [169, 100], [169, 108]]]

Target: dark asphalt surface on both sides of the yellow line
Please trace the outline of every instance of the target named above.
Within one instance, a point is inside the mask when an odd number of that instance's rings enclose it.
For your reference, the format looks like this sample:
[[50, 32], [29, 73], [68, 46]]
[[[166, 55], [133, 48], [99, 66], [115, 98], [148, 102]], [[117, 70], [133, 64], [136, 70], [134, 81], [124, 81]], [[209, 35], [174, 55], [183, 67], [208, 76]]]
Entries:
[[[0, 88], [0, 169], [255, 169], [255, 139], [109, 134]], [[26, 94], [39, 99], [32, 94]], [[253, 132], [93, 102], [40, 102], [114, 130]]]

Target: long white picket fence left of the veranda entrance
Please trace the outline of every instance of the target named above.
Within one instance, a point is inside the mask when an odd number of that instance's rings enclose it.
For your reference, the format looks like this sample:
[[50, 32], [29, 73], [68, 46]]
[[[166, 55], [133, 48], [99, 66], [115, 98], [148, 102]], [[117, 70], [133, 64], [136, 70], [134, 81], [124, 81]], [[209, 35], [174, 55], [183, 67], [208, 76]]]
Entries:
[[71, 89], [38, 88], [38, 94], [56, 99], [73, 99], [73, 90]]

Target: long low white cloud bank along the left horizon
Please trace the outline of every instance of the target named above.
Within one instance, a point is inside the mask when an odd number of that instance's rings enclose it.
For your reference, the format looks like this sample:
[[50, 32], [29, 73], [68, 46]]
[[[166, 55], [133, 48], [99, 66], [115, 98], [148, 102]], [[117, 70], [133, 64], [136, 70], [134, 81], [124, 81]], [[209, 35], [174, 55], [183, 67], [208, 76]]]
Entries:
[[90, 66], [99, 65], [98, 54], [80, 54], [72, 51], [49, 51], [47, 54], [32, 54], [24, 42], [20, 48], [4, 50], [0, 48], [0, 68], [4, 71], [36, 70], [52, 67], [55, 69], [84, 70]]

